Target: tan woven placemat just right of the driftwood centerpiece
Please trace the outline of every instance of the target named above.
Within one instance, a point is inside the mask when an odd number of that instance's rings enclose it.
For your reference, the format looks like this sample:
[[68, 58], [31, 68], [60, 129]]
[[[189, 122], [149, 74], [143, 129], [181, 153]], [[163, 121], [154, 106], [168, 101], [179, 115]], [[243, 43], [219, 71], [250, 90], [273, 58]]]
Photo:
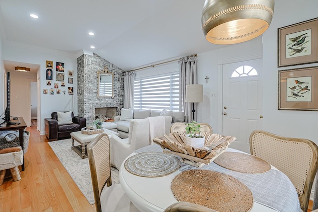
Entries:
[[263, 173], [271, 169], [265, 160], [240, 152], [226, 151], [213, 161], [219, 166], [242, 173]]

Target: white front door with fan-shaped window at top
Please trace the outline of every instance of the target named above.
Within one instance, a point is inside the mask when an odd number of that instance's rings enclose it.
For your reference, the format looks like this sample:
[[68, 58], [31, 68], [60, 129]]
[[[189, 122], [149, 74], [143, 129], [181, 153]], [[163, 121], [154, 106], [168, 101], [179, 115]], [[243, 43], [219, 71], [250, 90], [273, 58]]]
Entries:
[[250, 153], [249, 135], [262, 129], [262, 59], [223, 65], [222, 135], [229, 147]]

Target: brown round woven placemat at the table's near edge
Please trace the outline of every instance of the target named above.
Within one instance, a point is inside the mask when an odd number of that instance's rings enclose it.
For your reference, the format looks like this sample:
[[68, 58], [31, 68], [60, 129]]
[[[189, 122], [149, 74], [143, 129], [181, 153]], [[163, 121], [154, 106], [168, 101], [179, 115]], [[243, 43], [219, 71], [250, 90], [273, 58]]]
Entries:
[[172, 180], [179, 202], [195, 203], [219, 212], [248, 212], [253, 206], [250, 190], [232, 176], [209, 170], [184, 171]]

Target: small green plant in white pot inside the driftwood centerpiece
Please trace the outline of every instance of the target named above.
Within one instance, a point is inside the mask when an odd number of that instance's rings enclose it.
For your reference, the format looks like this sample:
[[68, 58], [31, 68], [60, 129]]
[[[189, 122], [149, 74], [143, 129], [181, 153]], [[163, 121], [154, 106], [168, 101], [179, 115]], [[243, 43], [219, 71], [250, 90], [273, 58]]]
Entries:
[[187, 124], [186, 130], [186, 136], [187, 136], [187, 144], [190, 146], [194, 146], [197, 148], [201, 148], [204, 146], [204, 136], [201, 135], [200, 132], [200, 124], [192, 121]]

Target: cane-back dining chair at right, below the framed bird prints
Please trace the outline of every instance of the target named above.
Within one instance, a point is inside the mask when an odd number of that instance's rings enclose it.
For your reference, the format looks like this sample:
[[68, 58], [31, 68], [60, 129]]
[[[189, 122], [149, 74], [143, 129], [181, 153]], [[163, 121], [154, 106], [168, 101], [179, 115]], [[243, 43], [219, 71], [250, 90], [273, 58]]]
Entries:
[[249, 137], [250, 152], [292, 181], [303, 212], [307, 212], [313, 181], [318, 169], [318, 146], [307, 139], [286, 138], [265, 131], [254, 131]]

